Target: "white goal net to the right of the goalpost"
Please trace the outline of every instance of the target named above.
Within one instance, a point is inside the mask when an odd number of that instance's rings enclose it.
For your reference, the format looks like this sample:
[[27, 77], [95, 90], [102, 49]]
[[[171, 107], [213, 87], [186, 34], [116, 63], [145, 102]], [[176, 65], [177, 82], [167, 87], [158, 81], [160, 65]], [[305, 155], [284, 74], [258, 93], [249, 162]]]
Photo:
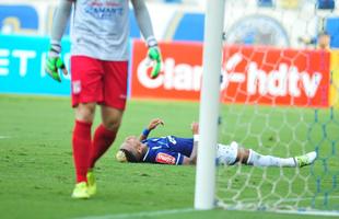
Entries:
[[335, 2], [225, 5], [219, 141], [282, 158], [316, 151], [318, 158], [302, 169], [219, 166], [219, 206], [339, 215], [339, 53], [317, 48], [322, 32], [331, 45], [338, 41]]

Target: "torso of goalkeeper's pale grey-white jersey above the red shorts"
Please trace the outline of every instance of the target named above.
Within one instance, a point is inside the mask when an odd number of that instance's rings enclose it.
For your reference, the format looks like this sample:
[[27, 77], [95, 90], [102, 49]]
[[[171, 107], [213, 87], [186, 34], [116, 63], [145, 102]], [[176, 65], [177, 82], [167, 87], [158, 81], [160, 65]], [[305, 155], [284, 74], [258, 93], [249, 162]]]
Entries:
[[72, 55], [128, 60], [129, 0], [75, 0]]

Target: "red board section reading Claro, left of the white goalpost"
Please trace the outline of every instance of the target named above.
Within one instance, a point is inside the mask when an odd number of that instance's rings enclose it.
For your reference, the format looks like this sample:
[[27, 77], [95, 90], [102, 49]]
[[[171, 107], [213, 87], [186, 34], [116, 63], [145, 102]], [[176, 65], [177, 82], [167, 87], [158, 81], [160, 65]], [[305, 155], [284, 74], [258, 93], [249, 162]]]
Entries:
[[201, 44], [163, 43], [162, 72], [151, 79], [144, 43], [132, 46], [131, 97], [199, 100], [202, 73]]

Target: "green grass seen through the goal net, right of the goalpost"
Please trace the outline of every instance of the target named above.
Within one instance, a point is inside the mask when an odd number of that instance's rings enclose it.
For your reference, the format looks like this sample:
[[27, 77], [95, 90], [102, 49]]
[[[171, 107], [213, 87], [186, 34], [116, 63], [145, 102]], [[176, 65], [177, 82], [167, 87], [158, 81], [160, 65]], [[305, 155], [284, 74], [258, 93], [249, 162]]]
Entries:
[[[236, 140], [264, 154], [279, 157], [317, 150], [318, 161], [302, 170], [221, 169], [218, 182], [223, 189], [219, 197], [233, 205], [244, 203], [244, 198], [249, 198], [253, 204], [256, 201], [253, 197], [260, 196], [265, 200], [257, 200], [260, 207], [339, 209], [339, 160], [336, 152], [339, 111], [225, 105], [221, 112], [224, 120], [222, 141]], [[236, 194], [239, 194], [238, 198], [233, 197]]]

